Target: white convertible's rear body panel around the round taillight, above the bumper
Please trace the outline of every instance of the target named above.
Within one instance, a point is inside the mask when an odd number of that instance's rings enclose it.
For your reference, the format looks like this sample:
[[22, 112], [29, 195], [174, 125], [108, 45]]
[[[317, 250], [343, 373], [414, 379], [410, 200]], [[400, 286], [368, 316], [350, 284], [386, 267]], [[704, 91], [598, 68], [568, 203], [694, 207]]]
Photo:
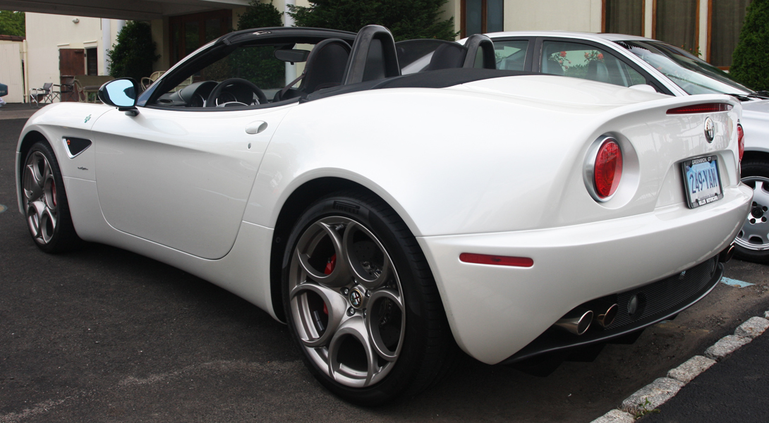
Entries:
[[[368, 106], [361, 108], [365, 97]], [[687, 101], [739, 107], [721, 95]], [[484, 107], [487, 102], [494, 107]], [[736, 128], [708, 144], [697, 128], [703, 118], [665, 114], [681, 104], [666, 95], [545, 75], [307, 102], [286, 117], [273, 139], [244, 220], [273, 227], [288, 195], [324, 176], [370, 188], [404, 217], [414, 235], [423, 236], [547, 228], [652, 212], [663, 183], [680, 182], [665, 181], [678, 162], [716, 152], [727, 157], [737, 148]], [[381, 119], [392, 110], [401, 114], [398, 125]], [[331, 116], [337, 113], [345, 118]], [[541, 119], [545, 114], [559, 129], [549, 130], [552, 125]], [[736, 119], [737, 111], [731, 115]], [[306, 125], [311, 121], [315, 125]], [[582, 171], [588, 146], [604, 134], [618, 135], [628, 151], [634, 148], [640, 161], [636, 178], [643, 183], [632, 185], [628, 172], [621, 194], [598, 204], [584, 187]], [[392, 163], [421, 170], [418, 176], [393, 172]], [[724, 184], [737, 183], [728, 181]], [[436, 216], [435, 210], [441, 213]]]

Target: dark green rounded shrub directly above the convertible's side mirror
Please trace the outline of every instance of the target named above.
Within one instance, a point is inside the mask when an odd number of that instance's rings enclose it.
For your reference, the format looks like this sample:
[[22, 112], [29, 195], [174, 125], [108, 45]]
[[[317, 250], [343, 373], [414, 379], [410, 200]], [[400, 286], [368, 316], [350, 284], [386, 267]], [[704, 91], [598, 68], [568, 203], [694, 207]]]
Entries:
[[147, 22], [130, 21], [118, 32], [118, 44], [112, 45], [107, 55], [109, 75], [115, 78], [134, 78], [141, 81], [152, 73], [152, 63], [160, 58], [155, 55], [155, 42]]

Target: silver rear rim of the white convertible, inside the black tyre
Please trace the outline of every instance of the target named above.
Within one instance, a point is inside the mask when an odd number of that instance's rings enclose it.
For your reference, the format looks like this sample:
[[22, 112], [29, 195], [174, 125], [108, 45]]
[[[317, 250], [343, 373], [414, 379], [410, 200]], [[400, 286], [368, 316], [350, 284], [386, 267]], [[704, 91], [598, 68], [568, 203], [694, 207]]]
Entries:
[[299, 238], [291, 317], [312, 361], [342, 385], [377, 383], [398, 360], [404, 298], [381, 241], [360, 222], [320, 218]]

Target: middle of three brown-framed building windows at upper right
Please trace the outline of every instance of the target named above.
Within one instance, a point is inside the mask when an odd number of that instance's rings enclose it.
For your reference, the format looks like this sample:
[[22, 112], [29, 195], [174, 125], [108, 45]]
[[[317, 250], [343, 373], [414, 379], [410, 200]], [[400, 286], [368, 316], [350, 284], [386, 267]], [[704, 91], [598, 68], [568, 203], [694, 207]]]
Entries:
[[697, 15], [699, 0], [654, 0], [654, 34], [651, 38], [667, 42], [698, 55]]

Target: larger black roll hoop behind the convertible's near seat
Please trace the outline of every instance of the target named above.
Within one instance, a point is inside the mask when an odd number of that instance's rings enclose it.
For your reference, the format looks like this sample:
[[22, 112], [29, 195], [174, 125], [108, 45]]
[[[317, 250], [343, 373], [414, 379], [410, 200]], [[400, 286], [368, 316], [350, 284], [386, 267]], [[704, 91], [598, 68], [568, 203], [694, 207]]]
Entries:
[[358, 31], [342, 85], [401, 75], [395, 42], [388, 28], [367, 25]]

